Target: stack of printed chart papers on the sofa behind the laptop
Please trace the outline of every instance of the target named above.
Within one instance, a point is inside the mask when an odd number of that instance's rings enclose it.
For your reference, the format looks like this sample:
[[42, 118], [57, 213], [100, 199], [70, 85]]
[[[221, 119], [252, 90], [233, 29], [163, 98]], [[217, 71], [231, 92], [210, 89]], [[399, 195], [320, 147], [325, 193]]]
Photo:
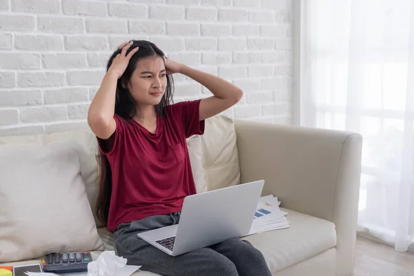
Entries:
[[247, 235], [288, 228], [289, 221], [285, 217], [288, 213], [280, 210], [279, 205], [280, 201], [273, 195], [261, 197], [259, 204], [257, 204], [252, 227]]

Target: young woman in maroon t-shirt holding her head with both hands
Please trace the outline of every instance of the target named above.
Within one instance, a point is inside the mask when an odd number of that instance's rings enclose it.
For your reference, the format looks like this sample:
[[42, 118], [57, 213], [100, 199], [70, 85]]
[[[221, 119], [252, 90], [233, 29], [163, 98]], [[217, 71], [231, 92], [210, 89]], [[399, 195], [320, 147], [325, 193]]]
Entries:
[[[174, 73], [214, 96], [170, 105]], [[184, 197], [196, 193], [186, 138], [202, 135], [204, 119], [241, 97], [233, 84], [166, 59], [148, 41], [123, 43], [110, 57], [88, 124], [101, 157], [97, 213], [128, 264], [170, 276], [271, 275], [262, 253], [242, 239], [172, 257], [137, 237], [178, 223]]]

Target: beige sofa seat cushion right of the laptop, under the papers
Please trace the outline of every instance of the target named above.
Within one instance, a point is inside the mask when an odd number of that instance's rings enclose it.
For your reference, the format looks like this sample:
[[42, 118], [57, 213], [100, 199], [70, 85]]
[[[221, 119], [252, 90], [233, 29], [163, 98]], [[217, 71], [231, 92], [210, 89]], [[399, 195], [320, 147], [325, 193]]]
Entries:
[[335, 224], [331, 221], [281, 208], [290, 227], [244, 237], [259, 249], [272, 273], [336, 246]]

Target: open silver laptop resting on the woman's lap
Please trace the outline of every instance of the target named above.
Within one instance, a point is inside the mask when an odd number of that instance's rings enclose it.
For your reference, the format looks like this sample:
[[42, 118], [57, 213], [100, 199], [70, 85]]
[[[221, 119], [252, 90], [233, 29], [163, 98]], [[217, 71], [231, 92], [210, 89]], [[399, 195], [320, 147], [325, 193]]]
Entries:
[[177, 256], [250, 231], [264, 180], [239, 184], [184, 199], [179, 224], [139, 233], [138, 237]]

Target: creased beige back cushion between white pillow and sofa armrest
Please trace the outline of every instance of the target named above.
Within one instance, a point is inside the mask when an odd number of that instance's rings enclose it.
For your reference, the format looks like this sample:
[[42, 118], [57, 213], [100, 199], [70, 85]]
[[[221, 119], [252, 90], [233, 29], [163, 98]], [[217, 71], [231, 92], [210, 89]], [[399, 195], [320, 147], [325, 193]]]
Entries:
[[239, 184], [239, 155], [233, 119], [222, 115], [206, 119], [201, 144], [208, 190]]

